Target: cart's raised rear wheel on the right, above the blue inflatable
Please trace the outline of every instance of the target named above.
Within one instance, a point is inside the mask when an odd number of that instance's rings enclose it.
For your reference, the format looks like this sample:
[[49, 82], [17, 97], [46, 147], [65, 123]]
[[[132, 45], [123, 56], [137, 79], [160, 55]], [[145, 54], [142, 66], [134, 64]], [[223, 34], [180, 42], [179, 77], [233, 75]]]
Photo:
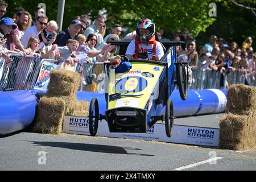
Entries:
[[188, 76], [185, 65], [177, 65], [177, 85], [179, 86], [180, 98], [184, 101], [187, 98]]

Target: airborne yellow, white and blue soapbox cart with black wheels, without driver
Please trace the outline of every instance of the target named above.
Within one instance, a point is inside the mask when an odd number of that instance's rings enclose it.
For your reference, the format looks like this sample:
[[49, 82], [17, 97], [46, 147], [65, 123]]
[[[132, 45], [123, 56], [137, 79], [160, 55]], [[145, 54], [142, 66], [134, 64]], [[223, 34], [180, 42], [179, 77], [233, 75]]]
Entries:
[[[111, 42], [118, 47], [117, 55], [125, 55], [129, 41]], [[110, 133], [147, 133], [157, 121], [164, 121], [166, 135], [171, 137], [174, 124], [174, 107], [170, 98], [177, 85], [180, 97], [187, 96], [187, 63], [177, 63], [175, 46], [181, 42], [162, 42], [165, 54], [160, 61], [123, 59], [130, 61], [132, 68], [124, 73], [115, 73], [105, 63], [105, 115], [99, 114], [97, 98], [89, 106], [89, 131], [95, 136], [98, 121], [108, 122]], [[109, 91], [109, 92], [108, 92]], [[166, 106], [165, 115], [160, 115]]]

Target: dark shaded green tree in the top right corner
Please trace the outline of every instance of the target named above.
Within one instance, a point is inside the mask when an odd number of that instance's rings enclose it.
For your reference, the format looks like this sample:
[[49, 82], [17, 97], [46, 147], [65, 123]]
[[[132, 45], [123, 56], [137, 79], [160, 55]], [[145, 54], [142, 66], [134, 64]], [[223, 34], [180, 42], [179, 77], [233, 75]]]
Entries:
[[[256, 1], [239, 1], [240, 5], [254, 8]], [[256, 15], [250, 9], [237, 6], [233, 1], [224, 1], [217, 4], [216, 21], [205, 32], [197, 36], [197, 45], [204, 45], [209, 41], [210, 35], [224, 38], [228, 43], [237, 42], [241, 47], [243, 41], [251, 36], [255, 49], [256, 40]]]

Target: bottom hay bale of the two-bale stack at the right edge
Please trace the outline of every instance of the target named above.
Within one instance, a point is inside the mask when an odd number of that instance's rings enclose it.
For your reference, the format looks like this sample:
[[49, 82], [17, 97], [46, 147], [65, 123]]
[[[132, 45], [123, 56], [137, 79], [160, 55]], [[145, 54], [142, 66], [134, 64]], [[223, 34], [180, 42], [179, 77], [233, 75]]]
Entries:
[[219, 147], [247, 150], [256, 146], [256, 118], [247, 115], [225, 114], [220, 121]]

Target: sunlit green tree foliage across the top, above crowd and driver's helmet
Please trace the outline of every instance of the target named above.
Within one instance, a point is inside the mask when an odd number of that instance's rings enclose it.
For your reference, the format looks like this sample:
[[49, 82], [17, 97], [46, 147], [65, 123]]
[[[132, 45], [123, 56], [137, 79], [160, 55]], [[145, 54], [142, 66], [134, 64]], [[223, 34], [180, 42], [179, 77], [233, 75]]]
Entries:
[[[122, 26], [135, 27], [135, 23], [144, 17], [155, 21], [156, 27], [163, 27], [172, 32], [176, 28], [187, 27], [192, 34], [197, 35], [204, 31], [215, 18], [208, 15], [209, 3], [220, 2], [221, 0], [66, 0], [63, 29], [67, 28], [75, 16], [91, 13], [92, 19], [98, 14], [98, 11], [105, 9], [108, 15], [107, 25], [120, 23]], [[6, 1], [9, 3], [8, 16], [13, 16], [12, 10], [15, 7], [22, 6], [27, 9], [32, 16], [38, 3], [45, 3], [47, 7], [47, 16], [49, 19], [56, 19], [57, 0], [40, 1]]]

